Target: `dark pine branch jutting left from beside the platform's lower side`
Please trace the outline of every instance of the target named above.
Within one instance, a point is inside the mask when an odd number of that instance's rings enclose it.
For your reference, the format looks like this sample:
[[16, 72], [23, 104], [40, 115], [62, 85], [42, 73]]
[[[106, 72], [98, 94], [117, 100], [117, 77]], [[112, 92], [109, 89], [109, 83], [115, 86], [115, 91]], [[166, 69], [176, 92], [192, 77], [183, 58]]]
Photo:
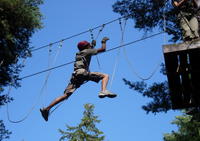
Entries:
[[160, 82], [153, 83], [151, 86], [143, 81], [141, 82], [130, 82], [126, 79], [123, 79], [125, 84], [129, 86], [130, 89], [133, 89], [142, 94], [144, 97], [151, 98], [152, 101], [147, 105], [142, 106], [143, 110], [147, 113], [152, 112], [154, 114], [159, 112], [167, 112], [171, 109], [171, 100], [168, 90], [168, 83]]

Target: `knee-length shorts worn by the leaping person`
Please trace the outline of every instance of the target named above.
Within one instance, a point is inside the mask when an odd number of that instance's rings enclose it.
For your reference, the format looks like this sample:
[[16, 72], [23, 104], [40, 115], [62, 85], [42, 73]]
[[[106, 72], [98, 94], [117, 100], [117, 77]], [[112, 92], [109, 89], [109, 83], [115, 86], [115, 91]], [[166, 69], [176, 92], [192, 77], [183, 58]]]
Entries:
[[94, 81], [98, 83], [100, 80], [103, 79], [104, 75], [104, 73], [100, 72], [88, 72], [85, 69], [78, 69], [72, 74], [70, 83], [66, 87], [64, 93], [72, 94], [77, 88], [88, 81]]

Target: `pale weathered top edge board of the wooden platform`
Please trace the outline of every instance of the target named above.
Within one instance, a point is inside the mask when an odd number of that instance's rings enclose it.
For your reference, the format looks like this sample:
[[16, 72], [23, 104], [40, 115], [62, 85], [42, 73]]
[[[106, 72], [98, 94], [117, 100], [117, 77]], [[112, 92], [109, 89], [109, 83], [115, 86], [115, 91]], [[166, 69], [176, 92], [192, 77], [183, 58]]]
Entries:
[[178, 52], [190, 49], [197, 49], [200, 48], [200, 39], [196, 39], [190, 42], [183, 42], [178, 44], [170, 44], [170, 45], [163, 45], [163, 52], [170, 53], [170, 52]]

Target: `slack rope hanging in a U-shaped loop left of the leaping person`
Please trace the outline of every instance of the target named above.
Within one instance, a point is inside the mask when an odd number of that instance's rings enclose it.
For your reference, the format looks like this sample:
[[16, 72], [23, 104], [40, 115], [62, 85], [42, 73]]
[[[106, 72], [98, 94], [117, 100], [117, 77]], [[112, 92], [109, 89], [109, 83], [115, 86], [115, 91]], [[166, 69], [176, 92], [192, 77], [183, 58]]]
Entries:
[[[51, 45], [52, 45], [52, 44], [50, 44], [50, 46], [49, 46], [49, 54], [50, 54], [51, 51], [52, 51], [52, 50], [51, 50]], [[56, 60], [57, 60], [57, 57], [58, 57], [58, 54], [60, 53], [61, 47], [62, 47], [62, 42], [61, 42], [60, 45], [59, 45], [59, 48], [58, 48], [58, 50], [57, 50], [57, 52], [56, 52], [56, 55], [55, 55], [55, 57], [54, 57], [54, 60], [53, 60], [53, 63], [52, 63], [52, 64], [55, 64], [55, 62], [56, 62]], [[48, 66], [50, 66], [50, 62], [48, 62]], [[26, 114], [22, 119], [16, 120], [16, 121], [11, 120], [10, 114], [9, 114], [9, 108], [8, 108], [8, 104], [7, 104], [7, 106], [6, 106], [6, 107], [7, 107], [7, 118], [8, 118], [8, 121], [9, 121], [9, 122], [11, 122], [11, 123], [20, 123], [20, 122], [25, 121], [25, 120], [30, 116], [30, 114], [31, 114], [32, 111], [35, 109], [36, 105], [38, 104], [39, 99], [41, 98], [41, 96], [42, 96], [42, 94], [43, 94], [43, 92], [44, 92], [44, 89], [46, 88], [46, 85], [47, 85], [47, 82], [48, 82], [50, 73], [51, 73], [51, 71], [49, 71], [48, 74], [46, 75], [44, 85], [42, 86], [42, 88], [41, 88], [41, 90], [40, 90], [40, 94], [38, 95], [38, 98], [37, 98], [36, 102], [33, 104], [33, 106], [30, 108], [30, 110], [27, 112], [27, 114]], [[9, 87], [8, 94], [7, 94], [7, 95], [10, 95], [11, 89], [12, 89], [12, 86]]]

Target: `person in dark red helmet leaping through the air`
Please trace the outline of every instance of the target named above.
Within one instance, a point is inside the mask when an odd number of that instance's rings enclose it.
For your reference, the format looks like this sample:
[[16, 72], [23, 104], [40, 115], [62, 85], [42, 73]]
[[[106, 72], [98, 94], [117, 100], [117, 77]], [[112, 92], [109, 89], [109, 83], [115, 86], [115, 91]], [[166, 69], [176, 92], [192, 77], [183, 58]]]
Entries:
[[84, 84], [87, 81], [94, 81], [98, 83], [100, 80], [102, 80], [102, 86], [101, 86], [101, 91], [99, 93], [99, 98], [104, 98], [104, 97], [114, 98], [117, 96], [116, 94], [111, 93], [106, 89], [109, 80], [108, 74], [89, 71], [91, 57], [98, 53], [105, 52], [106, 42], [108, 40], [109, 38], [104, 37], [101, 41], [102, 47], [99, 49], [94, 49], [94, 46], [96, 45], [95, 40], [93, 40], [91, 44], [87, 41], [81, 41], [78, 43], [77, 47], [79, 49], [79, 52], [76, 53], [74, 72], [72, 73], [70, 83], [68, 84], [67, 88], [64, 91], [64, 95], [56, 98], [49, 106], [40, 109], [42, 117], [44, 118], [45, 121], [48, 121], [49, 111], [53, 106], [67, 99], [69, 96], [73, 94], [73, 92], [77, 88], [79, 88], [82, 84]]

